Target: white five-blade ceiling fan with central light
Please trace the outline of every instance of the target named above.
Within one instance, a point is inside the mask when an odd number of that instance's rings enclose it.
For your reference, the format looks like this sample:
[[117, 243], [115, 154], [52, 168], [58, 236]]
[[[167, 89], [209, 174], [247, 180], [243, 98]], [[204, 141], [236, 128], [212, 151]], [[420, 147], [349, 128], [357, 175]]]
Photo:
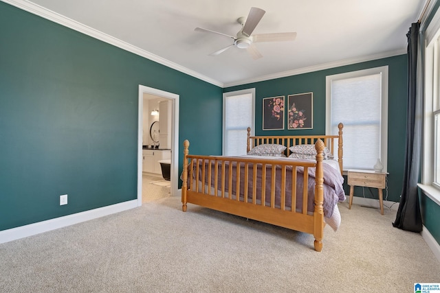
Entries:
[[250, 9], [248, 18], [246, 19], [244, 16], [237, 19], [237, 22], [241, 24], [241, 30], [236, 33], [236, 36], [230, 36], [228, 34], [223, 34], [221, 32], [214, 32], [212, 30], [207, 30], [201, 27], [196, 27], [196, 32], [210, 32], [213, 34], [219, 34], [221, 36], [227, 36], [228, 38], [232, 38], [234, 40], [234, 43], [231, 45], [228, 45], [228, 47], [224, 47], [222, 49], [219, 49], [218, 51], [215, 51], [214, 53], [211, 53], [210, 56], [216, 56], [230, 47], [237, 47], [240, 49], [247, 49], [250, 56], [254, 59], [259, 59], [263, 57], [259, 50], [256, 49], [256, 46], [254, 43], [261, 43], [261, 42], [279, 42], [279, 41], [287, 41], [287, 40], [294, 40], [296, 38], [296, 32], [280, 32], [280, 33], [274, 33], [274, 34], [252, 34], [254, 32], [256, 25], [259, 24], [261, 19], [263, 18], [263, 15], [265, 14], [265, 10], [262, 10], [261, 8], [252, 7]]

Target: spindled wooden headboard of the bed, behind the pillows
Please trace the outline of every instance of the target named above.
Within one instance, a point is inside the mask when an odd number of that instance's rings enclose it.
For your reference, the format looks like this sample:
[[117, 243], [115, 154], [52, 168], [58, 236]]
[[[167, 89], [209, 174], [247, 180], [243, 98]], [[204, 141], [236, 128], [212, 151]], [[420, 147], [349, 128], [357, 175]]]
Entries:
[[[327, 147], [335, 158], [338, 158], [339, 167], [342, 172], [342, 128], [344, 124], [338, 124], [338, 135], [267, 135], [267, 136], [250, 136], [250, 127], [248, 127], [248, 149], [249, 152], [256, 145], [262, 144], [279, 144], [285, 145], [287, 156], [290, 154], [289, 148], [293, 145], [305, 145], [305, 144], [315, 144], [318, 139], [324, 142], [325, 147]], [[335, 140], [338, 140], [338, 152], [336, 153]]]

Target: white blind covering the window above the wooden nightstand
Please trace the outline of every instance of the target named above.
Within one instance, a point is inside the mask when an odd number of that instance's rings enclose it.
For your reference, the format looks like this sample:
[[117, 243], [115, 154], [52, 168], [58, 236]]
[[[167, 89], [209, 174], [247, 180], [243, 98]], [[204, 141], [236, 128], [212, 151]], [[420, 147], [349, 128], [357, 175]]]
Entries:
[[380, 73], [332, 80], [331, 128], [344, 124], [344, 169], [373, 169], [381, 158]]

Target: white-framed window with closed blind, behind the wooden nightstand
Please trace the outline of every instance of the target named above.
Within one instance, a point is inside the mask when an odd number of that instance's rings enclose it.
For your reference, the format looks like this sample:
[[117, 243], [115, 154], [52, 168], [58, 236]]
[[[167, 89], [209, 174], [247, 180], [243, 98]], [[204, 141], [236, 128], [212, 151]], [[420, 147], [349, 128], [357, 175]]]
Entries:
[[386, 172], [388, 67], [329, 75], [327, 134], [344, 124], [344, 169], [373, 169], [381, 159]]

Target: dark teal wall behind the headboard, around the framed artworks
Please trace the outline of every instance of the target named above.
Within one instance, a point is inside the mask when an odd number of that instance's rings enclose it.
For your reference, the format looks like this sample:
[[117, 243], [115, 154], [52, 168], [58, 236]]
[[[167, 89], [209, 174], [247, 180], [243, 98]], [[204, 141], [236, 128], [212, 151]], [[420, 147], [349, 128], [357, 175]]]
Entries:
[[[404, 169], [405, 131], [406, 131], [406, 55], [383, 58], [369, 62], [336, 67], [311, 73], [292, 75], [285, 78], [232, 86], [224, 91], [255, 88], [255, 134], [306, 135], [325, 133], [325, 78], [327, 75], [369, 69], [388, 65], [388, 198], [399, 201]], [[310, 130], [263, 130], [263, 98], [278, 95], [313, 92], [314, 124]], [[287, 117], [286, 117], [287, 121]], [[350, 141], [344, 141], [347, 145]], [[345, 185], [348, 194], [348, 187]], [[370, 193], [371, 190], [371, 193]], [[355, 188], [355, 195], [362, 195], [362, 189]], [[366, 189], [365, 196], [378, 198], [377, 189]], [[384, 191], [386, 196], [386, 191]]]

